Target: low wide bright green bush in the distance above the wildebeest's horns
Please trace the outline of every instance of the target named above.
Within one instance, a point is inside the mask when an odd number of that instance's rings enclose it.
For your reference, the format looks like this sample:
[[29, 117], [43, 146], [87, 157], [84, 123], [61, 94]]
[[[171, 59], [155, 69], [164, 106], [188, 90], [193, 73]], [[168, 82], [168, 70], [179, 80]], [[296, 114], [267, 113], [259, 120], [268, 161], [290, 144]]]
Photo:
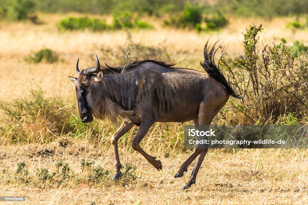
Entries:
[[87, 16], [80, 18], [65, 18], [59, 23], [60, 30], [85, 30], [89, 29], [91, 31], [105, 31], [109, 29], [105, 20], [99, 20], [96, 18], [89, 18]]

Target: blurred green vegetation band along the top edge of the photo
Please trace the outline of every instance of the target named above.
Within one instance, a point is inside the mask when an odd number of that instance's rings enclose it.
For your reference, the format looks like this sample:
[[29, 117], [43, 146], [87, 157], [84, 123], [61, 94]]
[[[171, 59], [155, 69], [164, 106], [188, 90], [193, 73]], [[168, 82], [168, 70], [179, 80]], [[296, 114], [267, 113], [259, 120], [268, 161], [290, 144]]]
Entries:
[[33, 4], [35, 11], [46, 13], [78, 12], [102, 15], [111, 14], [120, 10], [162, 16], [164, 14], [172, 14], [185, 10], [187, 2], [200, 5], [202, 12], [208, 14], [221, 12], [226, 15], [235, 14], [240, 16], [272, 18], [274, 16], [308, 13], [308, 1], [305, 0], [88, 0], [86, 2], [83, 0], [2, 0], [0, 6], [12, 6], [12, 4], [16, 3], [21, 5], [21, 2], [27, 2], [26, 7]]

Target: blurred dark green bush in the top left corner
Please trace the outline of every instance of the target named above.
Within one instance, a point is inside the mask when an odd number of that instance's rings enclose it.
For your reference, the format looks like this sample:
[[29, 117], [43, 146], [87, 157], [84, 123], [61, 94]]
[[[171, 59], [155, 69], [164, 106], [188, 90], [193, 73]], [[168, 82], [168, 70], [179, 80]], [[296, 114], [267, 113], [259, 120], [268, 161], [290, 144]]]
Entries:
[[31, 0], [9, 0], [3, 12], [9, 21], [23, 21], [34, 9], [34, 2]]

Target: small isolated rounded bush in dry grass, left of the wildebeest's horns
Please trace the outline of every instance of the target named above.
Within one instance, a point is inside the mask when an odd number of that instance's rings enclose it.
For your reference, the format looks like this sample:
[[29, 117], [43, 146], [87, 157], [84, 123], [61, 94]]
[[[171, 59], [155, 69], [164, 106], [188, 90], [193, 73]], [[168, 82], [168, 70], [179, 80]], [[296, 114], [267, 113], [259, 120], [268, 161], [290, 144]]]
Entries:
[[51, 49], [41, 49], [34, 54], [34, 56], [29, 56], [25, 59], [26, 61], [33, 61], [34, 63], [47, 62], [55, 63], [59, 60], [59, 55], [52, 51]]

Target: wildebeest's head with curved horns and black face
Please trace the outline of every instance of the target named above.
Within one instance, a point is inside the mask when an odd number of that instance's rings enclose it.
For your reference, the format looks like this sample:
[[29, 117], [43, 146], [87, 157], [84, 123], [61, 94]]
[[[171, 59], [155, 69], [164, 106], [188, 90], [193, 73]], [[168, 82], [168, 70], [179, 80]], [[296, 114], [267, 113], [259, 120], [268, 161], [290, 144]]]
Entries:
[[[78, 63], [79, 59], [77, 60], [76, 64], [76, 72], [78, 74], [78, 78], [74, 78], [69, 76], [71, 81], [75, 84], [76, 96], [78, 100], [78, 109], [79, 109], [79, 116], [83, 123], [91, 122], [93, 120], [93, 115], [91, 113], [91, 109], [89, 108], [87, 102], [87, 94], [91, 90], [91, 83], [95, 79], [96, 81], [102, 80], [104, 77], [103, 70], [100, 69], [99, 60], [97, 55], [95, 54], [96, 58], [96, 68], [87, 68], [83, 70], [79, 70]], [[97, 73], [94, 75], [94, 73]]]

